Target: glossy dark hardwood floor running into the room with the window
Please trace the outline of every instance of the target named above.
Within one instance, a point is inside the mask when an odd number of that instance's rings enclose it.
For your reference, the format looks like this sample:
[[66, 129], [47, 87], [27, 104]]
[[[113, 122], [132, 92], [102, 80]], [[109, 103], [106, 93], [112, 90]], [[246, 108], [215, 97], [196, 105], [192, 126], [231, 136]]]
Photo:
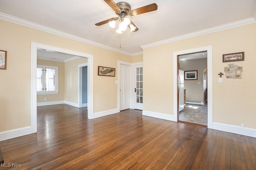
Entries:
[[132, 109], [89, 120], [86, 107], [41, 106], [38, 133], [0, 148], [6, 165], [22, 169], [256, 170], [256, 138]]

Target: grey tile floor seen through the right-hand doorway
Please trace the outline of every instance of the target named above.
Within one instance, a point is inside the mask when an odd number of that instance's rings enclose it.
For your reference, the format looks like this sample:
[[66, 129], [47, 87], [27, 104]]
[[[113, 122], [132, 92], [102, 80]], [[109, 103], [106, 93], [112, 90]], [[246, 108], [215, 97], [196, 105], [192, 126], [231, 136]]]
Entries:
[[200, 125], [207, 125], [207, 104], [186, 104], [179, 112], [179, 120]]

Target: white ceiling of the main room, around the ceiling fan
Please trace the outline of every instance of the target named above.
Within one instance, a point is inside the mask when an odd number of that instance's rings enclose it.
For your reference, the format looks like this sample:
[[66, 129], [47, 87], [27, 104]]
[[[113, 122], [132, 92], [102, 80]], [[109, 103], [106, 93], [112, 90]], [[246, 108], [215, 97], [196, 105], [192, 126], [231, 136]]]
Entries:
[[[114, 0], [118, 3], [120, 0]], [[158, 10], [129, 17], [138, 27], [121, 35], [108, 24], [116, 17], [104, 0], [0, 0], [0, 13], [15, 16], [86, 39], [99, 46], [131, 55], [143, 45], [202, 31], [219, 25], [256, 18], [256, 0], [126, 0], [132, 10], [156, 3]], [[241, 21], [240, 21], [241, 22]], [[223, 28], [222, 28], [223, 29]], [[214, 31], [214, 30], [212, 30]]]

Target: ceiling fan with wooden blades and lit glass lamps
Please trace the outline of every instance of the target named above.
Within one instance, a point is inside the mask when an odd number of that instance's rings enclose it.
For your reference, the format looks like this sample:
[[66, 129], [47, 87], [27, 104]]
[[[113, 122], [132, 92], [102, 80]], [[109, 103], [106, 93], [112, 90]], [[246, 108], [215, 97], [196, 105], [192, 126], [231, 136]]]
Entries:
[[116, 30], [117, 33], [122, 33], [122, 31], [125, 31], [127, 27], [129, 27], [132, 32], [139, 30], [138, 27], [136, 27], [136, 25], [127, 16], [136, 16], [139, 14], [144, 14], [146, 12], [157, 10], [156, 3], [131, 10], [131, 6], [127, 2], [118, 2], [116, 4], [113, 0], [104, 1], [116, 12], [118, 17], [101, 21], [99, 23], [96, 23], [95, 25], [100, 26], [105, 23], [109, 23], [110, 27], [114, 28], [116, 26], [116, 22], [119, 22], [119, 27]]

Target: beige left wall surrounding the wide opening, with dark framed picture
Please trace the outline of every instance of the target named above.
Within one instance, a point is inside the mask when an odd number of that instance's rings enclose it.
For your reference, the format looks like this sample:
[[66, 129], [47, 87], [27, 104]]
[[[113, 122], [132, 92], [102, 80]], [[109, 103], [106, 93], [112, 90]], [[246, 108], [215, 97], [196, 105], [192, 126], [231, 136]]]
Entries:
[[117, 108], [117, 75], [98, 76], [97, 67], [117, 68], [118, 60], [132, 63], [132, 57], [4, 20], [0, 25], [0, 46], [8, 51], [7, 70], [0, 71], [0, 132], [31, 124], [31, 42], [93, 55], [94, 113]]

